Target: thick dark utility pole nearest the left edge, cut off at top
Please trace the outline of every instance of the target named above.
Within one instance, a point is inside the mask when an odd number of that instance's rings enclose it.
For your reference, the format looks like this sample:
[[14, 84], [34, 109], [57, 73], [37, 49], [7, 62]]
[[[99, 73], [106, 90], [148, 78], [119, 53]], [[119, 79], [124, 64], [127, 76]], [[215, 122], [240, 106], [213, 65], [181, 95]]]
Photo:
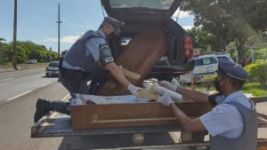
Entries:
[[17, 0], [14, 0], [14, 24], [13, 24], [13, 47], [12, 47], [12, 66], [17, 68]]

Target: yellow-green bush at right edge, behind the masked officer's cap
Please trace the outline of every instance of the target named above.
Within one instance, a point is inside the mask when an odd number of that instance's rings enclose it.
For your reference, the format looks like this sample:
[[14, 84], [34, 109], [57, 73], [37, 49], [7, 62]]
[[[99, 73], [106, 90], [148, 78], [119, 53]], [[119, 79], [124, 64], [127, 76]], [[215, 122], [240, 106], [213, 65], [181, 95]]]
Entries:
[[249, 75], [249, 81], [256, 80], [262, 85], [267, 84], [267, 63], [251, 64], [245, 67], [245, 69]]

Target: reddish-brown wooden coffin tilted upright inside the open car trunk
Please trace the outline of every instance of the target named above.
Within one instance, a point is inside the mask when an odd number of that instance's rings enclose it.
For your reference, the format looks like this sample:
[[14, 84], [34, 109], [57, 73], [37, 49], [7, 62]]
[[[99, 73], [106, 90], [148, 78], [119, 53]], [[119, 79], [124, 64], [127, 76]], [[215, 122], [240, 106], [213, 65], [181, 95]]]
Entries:
[[[165, 52], [165, 30], [160, 27], [146, 28], [127, 45], [125, 51], [118, 58], [117, 65], [141, 75], [139, 80], [129, 79], [130, 83], [139, 86]], [[126, 93], [126, 88], [118, 83], [112, 75], [109, 75], [107, 81], [97, 91], [97, 95], [104, 96], [124, 95]]]

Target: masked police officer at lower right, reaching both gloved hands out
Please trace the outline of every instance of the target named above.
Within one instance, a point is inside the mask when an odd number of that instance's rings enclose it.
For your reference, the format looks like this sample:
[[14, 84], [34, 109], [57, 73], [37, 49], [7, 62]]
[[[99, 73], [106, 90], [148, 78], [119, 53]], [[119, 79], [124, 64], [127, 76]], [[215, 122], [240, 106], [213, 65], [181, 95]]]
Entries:
[[190, 91], [162, 81], [160, 85], [183, 96], [210, 103], [214, 108], [196, 119], [190, 119], [174, 105], [168, 95], [163, 95], [161, 103], [171, 106], [175, 116], [188, 131], [207, 130], [210, 135], [212, 150], [255, 150], [257, 144], [257, 114], [250, 99], [241, 89], [247, 80], [243, 67], [228, 61], [220, 60], [214, 86], [219, 94], [207, 96], [200, 91]]

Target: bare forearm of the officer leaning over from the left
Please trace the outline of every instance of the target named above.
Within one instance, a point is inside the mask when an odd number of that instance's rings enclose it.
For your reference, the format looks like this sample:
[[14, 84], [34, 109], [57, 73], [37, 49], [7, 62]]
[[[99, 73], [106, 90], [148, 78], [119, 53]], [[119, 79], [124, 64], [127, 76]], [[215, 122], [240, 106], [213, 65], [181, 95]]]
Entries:
[[128, 87], [129, 85], [128, 80], [114, 62], [110, 62], [109, 64], [107, 64], [106, 68], [117, 79], [119, 83], [121, 83], [124, 87]]

